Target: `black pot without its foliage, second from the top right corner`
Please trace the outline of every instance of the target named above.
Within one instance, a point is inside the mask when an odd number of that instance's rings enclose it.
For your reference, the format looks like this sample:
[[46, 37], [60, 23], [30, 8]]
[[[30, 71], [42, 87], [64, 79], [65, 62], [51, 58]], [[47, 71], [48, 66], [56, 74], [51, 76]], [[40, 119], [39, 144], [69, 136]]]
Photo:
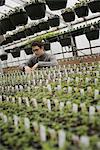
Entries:
[[89, 10], [88, 6], [81, 6], [74, 9], [78, 18], [88, 16]]

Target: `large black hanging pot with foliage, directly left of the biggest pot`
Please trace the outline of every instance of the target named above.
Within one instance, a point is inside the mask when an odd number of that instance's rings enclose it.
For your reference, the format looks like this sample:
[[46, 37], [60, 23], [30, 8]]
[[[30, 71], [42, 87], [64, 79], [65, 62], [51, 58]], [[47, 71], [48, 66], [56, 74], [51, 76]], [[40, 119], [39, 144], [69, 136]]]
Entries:
[[27, 24], [28, 16], [23, 9], [17, 7], [15, 11], [10, 11], [9, 13], [9, 18], [14, 26]]

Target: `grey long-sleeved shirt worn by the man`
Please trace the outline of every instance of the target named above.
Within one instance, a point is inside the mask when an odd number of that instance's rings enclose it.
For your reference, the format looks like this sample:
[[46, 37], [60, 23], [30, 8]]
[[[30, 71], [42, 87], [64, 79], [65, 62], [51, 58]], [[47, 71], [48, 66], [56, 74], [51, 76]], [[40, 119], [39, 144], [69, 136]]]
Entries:
[[23, 70], [25, 66], [32, 68], [36, 63], [38, 63], [39, 68], [55, 66], [58, 64], [54, 55], [44, 53], [40, 57], [33, 55], [25, 64], [20, 66], [20, 69]]

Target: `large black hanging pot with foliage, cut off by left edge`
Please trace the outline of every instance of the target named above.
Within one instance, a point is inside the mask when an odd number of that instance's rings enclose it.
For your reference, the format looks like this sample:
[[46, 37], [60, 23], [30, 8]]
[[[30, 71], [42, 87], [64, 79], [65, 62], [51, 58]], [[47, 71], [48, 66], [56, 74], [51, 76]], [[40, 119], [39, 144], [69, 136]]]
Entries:
[[16, 27], [10, 21], [9, 15], [5, 14], [4, 16], [2, 16], [0, 22], [1, 22], [2, 34], [5, 34], [7, 31], [16, 29]]

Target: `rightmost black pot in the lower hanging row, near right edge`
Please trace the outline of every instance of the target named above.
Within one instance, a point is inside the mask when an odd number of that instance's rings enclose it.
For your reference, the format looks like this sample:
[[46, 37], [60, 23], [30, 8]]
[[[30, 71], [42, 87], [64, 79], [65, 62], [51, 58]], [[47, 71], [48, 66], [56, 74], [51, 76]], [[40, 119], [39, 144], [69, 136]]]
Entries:
[[87, 30], [85, 35], [89, 41], [99, 39], [99, 29]]

